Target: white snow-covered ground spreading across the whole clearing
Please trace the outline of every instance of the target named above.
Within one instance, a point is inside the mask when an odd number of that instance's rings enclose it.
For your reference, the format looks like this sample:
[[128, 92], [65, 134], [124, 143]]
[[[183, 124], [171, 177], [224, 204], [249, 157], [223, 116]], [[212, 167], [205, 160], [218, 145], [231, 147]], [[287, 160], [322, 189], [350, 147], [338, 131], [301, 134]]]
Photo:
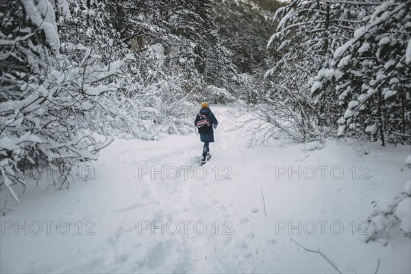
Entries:
[[0, 272], [336, 273], [291, 239], [343, 273], [374, 273], [378, 260], [378, 273], [411, 272], [399, 225], [386, 246], [361, 240], [371, 202], [384, 208], [410, 179], [401, 171], [409, 146], [366, 144], [368, 155], [343, 140], [251, 149], [232, 131], [234, 110], [212, 111], [220, 125], [203, 167], [197, 134], [119, 139], [79, 176], [95, 179], [30, 186], [1, 216]]

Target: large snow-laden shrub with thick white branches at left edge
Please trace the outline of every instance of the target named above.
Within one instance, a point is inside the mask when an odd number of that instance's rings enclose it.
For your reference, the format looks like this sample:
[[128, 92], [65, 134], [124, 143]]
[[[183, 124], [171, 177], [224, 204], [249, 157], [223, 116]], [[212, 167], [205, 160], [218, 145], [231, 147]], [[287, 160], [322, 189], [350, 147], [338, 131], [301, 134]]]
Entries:
[[110, 78], [127, 59], [103, 64], [83, 46], [74, 49], [79, 61], [69, 59], [60, 53], [53, 5], [36, 3], [12, 1], [0, 13], [0, 186], [16, 201], [12, 184], [25, 184], [25, 169], [49, 166], [62, 187], [78, 162], [97, 160], [110, 143], [96, 134], [106, 112], [101, 97], [116, 90]]

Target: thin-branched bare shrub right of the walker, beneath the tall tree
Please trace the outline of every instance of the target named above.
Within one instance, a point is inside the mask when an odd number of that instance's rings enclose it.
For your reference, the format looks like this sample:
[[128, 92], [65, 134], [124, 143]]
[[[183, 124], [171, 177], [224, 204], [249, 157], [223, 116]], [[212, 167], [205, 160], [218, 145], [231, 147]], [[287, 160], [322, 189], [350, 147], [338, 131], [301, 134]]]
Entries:
[[259, 130], [266, 131], [263, 140], [274, 136], [294, 142], [322, 142], [329, 131], [321, 116], [321, 105], [316, 104], [308, 91], [308, 82], [301, 82], [307, 77], [306, 71], [285, 59], [281, 63], [275, 69], [286, 78], [277, 82], [267, 73], [266, 81], [271, 78], [271, 88], [260, 88], [255, 92], [259, 104], [253, 112], [266, 125], [258, 126]]

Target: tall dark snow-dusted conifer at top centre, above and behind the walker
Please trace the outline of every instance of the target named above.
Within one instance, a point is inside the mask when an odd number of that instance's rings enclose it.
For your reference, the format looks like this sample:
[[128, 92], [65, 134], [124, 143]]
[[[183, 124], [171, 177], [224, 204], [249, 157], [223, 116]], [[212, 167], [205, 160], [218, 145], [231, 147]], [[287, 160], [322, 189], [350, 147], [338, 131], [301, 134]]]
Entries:
[[222, 63], [227, 56], [214, 34], [210, 1], [106, 2], [112, 25], [121, 40], [142, 58], [151, 55], [149, 51], [153, 48], [157, 49], [163, 62], [162, 73], [157, 74], [184, 79], [188, 84], [183, 88], [186, 94], [194, 86], [198, 87], [197, 91], [201, 90], [205, 79], [219, 79], [224, 75], [221, 65], [217, 70], [210, 69], [211, 60]]

